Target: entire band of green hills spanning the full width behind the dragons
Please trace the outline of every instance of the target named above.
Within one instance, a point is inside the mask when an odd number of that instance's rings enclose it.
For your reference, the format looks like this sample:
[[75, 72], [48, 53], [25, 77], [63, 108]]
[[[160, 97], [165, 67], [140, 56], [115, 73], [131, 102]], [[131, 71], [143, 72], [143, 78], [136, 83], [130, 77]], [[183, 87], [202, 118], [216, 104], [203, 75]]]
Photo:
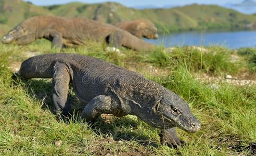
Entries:
[[[84, 17], [107, 23], [146, 18], [160, 32], [204, 29], [256, 29], [256, 16], [216, 5], [188, 5], [170, 9], [133, 9], [118, 3], [35, 6], [21, 0], [0, 0], [0, 24], [14, 27], [20, 21], [37, 15]], [[1, 27], [0, 27], [1, 29]]]

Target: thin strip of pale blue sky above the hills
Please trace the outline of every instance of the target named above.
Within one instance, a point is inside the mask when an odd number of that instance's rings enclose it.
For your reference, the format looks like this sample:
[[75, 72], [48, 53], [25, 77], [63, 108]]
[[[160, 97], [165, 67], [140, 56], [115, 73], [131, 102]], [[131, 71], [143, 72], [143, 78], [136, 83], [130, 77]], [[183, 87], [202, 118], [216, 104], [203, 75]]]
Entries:
[[30, 1], [35, 5], [53, 5], [53, 4], [66, 4], [70, 2], [83, 2], [83, 3], [101, 3], [101, 2], [118, 2], [121, 3], [127, 7], [134, 7], [134, 6], [156, 6], [156, 7], [162, 7], [166, 5], [174, 5], [174, 6], [181, 6], [181, 5], [186, 5], [186, 4], [193, 4], [193, 3], [198, 3], [198, 4], [217, 4], [217, 5], [225, 5], [227, 3], [240, 3], [242, 0], [120, 0], [120, 1], [115, 1], [115, 0], [59, 0], [59, 1], [53, 1], [53, 0], [25, 0], [25, 1]]

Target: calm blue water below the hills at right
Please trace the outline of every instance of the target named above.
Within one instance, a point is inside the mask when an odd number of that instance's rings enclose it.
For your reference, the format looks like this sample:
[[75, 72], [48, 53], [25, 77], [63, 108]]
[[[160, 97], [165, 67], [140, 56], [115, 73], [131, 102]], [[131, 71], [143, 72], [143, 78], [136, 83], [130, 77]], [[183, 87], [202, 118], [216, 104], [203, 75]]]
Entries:
[[[238, 49], [241, 47], [256, 47], [256, 31], [237, 32], [203, 32], [203, 46], [219, 45], [227, 48]], [[200, 46], [201, 32], [182, 32], [172, 34], [160, 34], [158, 40], [147, 42], [170, 46]]]

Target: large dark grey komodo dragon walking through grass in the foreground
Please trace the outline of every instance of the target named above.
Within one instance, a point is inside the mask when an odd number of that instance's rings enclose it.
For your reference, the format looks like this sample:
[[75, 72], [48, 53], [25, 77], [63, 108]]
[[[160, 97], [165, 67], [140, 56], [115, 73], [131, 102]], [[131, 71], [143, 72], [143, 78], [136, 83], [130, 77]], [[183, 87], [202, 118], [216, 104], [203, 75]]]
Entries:
[[22, 62], [18, 73], [24, 79], [53, 78], [56, 113], [71, 112], [67, 102], [69, 83], [75, 95], [87, 103], [82, 118], [95, 121], [102, 113], [132, 114], [161, 129], [161, 144], [175, 147], [182, 141], [175, 127], [195, 133], [199, 120], [175, 93], [145, 79], [143, 75], [93, 57], [75, 54], [46, 54]]

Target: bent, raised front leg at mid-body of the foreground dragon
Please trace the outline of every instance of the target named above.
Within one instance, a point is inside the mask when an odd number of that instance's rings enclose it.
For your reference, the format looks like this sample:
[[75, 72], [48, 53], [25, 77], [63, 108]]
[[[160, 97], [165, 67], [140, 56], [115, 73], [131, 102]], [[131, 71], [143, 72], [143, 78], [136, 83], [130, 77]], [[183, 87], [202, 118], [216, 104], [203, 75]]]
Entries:
[[95, 122], [100, 114], [111, 114], [113, 108], [111, 107], [111, 97], [99, 95], [93, 98], [84, 108], [82, 112], [82, 119], [86, 122]]

